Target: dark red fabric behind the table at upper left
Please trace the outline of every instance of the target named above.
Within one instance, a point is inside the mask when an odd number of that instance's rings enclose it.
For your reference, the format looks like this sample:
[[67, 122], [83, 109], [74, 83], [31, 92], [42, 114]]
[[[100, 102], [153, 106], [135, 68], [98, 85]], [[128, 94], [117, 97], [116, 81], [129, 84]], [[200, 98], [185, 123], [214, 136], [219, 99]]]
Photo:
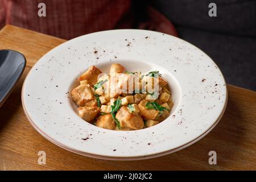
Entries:
[[[46, 17], [38, 4], [46, 4]], [[133, 27], [131, 0], [0, 0], [0, 28], [5, 24], [63, 39], [115, 28], [146, 28], [177, 36], [174, 26], [158, 11], [147, 8], [147, 21]]]

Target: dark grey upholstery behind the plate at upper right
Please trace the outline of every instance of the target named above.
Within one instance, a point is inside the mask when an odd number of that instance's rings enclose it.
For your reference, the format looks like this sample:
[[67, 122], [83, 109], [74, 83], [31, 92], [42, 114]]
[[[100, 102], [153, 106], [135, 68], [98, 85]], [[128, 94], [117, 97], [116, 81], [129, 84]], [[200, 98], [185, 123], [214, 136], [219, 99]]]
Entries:
[[[208, 5], [217, 5], [217, 17]], [[256, 1], [156, 0], [151, 5], [174, 23], [181, 39], [207, 53], [226, 82], [256, 90]]]

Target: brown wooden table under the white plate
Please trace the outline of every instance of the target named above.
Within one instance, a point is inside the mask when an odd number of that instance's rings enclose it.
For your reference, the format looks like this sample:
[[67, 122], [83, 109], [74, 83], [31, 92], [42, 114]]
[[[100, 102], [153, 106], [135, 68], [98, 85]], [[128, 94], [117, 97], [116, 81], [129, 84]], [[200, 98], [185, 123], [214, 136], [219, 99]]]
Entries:
[[[14, 49], [27, 58], [19, 84], [0, 108], [0, 169], [2, 170], [179, 170], [256, 169], [256, 92], [228, 85], [229, 100], [218, 125], [199, 142], [174, 154], [139, 161], [109, 161], [73, 154], [43, 138], [28, 122], [20, 100], [22, 84], [31, 67], [63, 39], [23, 28], [0, 31], [0, 49]], [[217, 165], [209, 165], [209, 151]], [[38, 152], [46, 151], [46, 165]]]

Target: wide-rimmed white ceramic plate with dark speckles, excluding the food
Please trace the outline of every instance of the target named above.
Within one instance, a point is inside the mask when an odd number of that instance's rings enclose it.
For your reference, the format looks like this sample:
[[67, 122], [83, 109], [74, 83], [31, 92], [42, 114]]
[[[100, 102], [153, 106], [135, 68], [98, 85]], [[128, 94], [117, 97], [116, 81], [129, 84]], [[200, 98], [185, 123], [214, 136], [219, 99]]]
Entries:
[[[158, 70], [174, 100], [170, 117], [137, 131], [101, 129], [81, 119], [69, 93], [91, 65], [109, 72]], [[72, 39], [31, 69], [22, 90], [27, 118], [51, 142], [77, 154], [136, 160], [175, 152], [203, 138], [224, 113], [227, 89], [217, 65], [199, 48], [174, 36], [144, 30], [111, 30]]]

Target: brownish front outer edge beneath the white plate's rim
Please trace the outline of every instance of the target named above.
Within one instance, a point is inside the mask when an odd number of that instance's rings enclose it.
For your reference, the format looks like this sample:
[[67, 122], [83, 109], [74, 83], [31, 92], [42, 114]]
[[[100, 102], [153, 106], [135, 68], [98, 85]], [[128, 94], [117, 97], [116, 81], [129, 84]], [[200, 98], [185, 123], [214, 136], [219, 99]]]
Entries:
[[[23, 87], [22, 87], [22, 93], [23, 93]], [[227, 93], [226, 94], [227, 94], [227, 97], [226, 97], [225, 106], [224, 106], [224, 109], [223, 109], [222, 113], [220, 114], [220, 116], [218, 117], [216, 122], [209, 128], [209, 130], [205, 131], [205, 133], [203, 133], [201, 136], [199, 136], [196, 139], [191, 140], [188, 143], [183, 144], [180, 147], [173, 148], [172, 150], [160, 152], [158, 154], [145, 155], [145, 156], [135, 156], [135, 157], [113, 157], [113, 156], [104, 156], [104, 155], [94, 155], [94, 154], [89, 154], [89, 153], [86, 153], [86, 152], [81, 152], [81, 151], [73, 150], [72, 148], [69, 148], [68, 146], [65, 146], [65, 145], [63, 145], [61, 143], [55, 142], [55, 140], [53, 140], [51, 137], [48, 137], [42, 130], [40, 130], [32, 122], [31, 118], [27, 114], [27, 111], [26, 111], [26, 109], [25, 109], [25, 107], [23, 105], [23, 97], [22, 97], [22, 107], [23, 107], [24, 113], [25, 113], [28, 121], [34, 127], [34, 129], [36, 131], [38, 131], [38, 133], [41, 134], [44, 138], [46, 138], [47, 140], [49, 140], [53, 144], [56, 144], [57, 146], [59, 146], [61, 148], [64, 148], [65, 150], [68, 150], [68, 151], [73, 152], [75, 154], [79, 154], [79, 155], [82, 155], [82, 156], [87, 156], [87, 157], [95, 158], [95, 159], [104, 159], [104, 160], [144, 160], [144, 159], [157, 158], [157, 157], [160, 157], [160, 156], [163, 156], [163, 155], [167, 155], [167, 154], [171, 154], [171, 153], [177, 152], [179, 150], [182, 150], [183, 148], [191, 146], [192, 144], [198, 142], [200, 139], [204, 138], [210, 131], [212, 131], [214, 129], [214, 127], [218, 124], [218, 122], [222, 118], [222, 116], [223, 116], [223, 114], [225, 112], [225, 109], [226, 109], [226, 105], [228, 104], [228, 89], [227, 89]]]

